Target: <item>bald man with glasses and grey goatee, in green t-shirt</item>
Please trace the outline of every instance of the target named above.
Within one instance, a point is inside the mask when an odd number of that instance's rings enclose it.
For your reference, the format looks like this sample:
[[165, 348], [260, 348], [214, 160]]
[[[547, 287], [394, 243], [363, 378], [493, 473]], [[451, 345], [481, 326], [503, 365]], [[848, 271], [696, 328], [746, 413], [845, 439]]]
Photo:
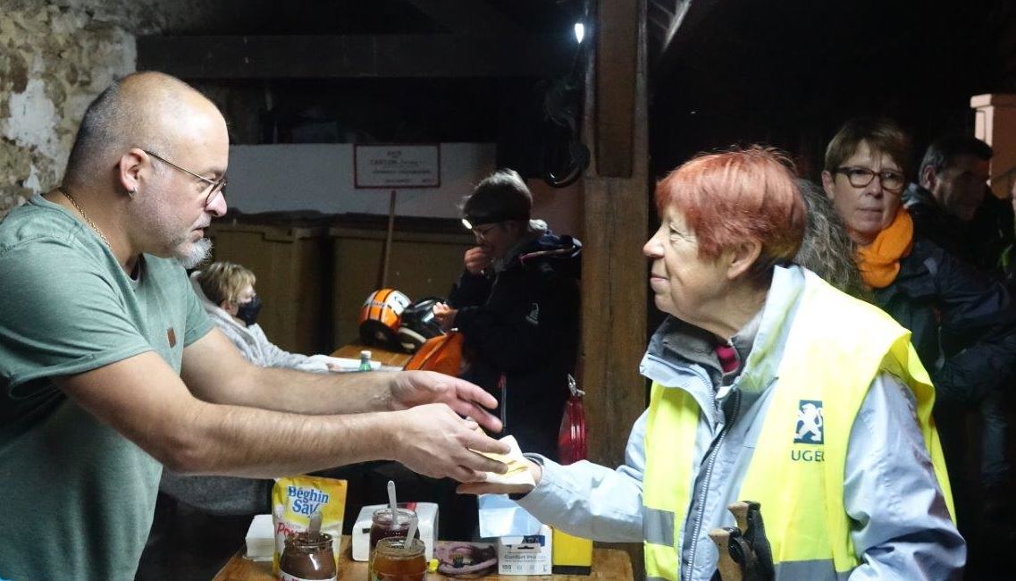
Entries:
[[133, 579], [164, 465], [504, 471], [470, 451], [508, 451], [475, 431], [501, 428], [477, 386], [258, 368], [211, 324], [184, 268], [226, 213], [228, 157], [209, 101], [136, 73], [88, 107], [62, 185], [0, 222], [0, 578]]

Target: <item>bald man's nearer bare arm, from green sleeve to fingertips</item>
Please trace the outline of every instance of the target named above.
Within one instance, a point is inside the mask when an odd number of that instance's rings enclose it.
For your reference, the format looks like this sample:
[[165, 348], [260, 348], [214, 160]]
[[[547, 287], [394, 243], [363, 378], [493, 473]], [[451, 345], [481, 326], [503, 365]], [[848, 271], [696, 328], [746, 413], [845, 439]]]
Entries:
[[55, 381], [100, 421], [184, 473], [270, 477], [378, 459], [461, 481], [504, 469], [470, 448], [505, 453], [507, 446], [444, 403], [340, 415], [211, 403], [191, 394], [151, 351]]

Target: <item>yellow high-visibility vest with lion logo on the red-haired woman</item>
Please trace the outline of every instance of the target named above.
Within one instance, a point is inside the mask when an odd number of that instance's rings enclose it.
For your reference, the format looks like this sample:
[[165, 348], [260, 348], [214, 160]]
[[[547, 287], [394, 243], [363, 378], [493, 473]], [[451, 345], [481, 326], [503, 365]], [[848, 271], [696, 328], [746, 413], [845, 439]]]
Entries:
[[[931, 423], [934, 392], [908, 331], [817, 278], [808, 277], [791, 324], [738, 498], [762, 505], [776, 579], [845, 579], [859, 564], [843, 508], [846, 448], [853, 419], [880, 371], [913, 390], [925, 443], [955, 514]], [[646, 575], [677, 580], [700, 409], [685, 390], [656, 383], [649, 406], [643, 482]], [[700, 543], [698, 551], [715, 547]]]

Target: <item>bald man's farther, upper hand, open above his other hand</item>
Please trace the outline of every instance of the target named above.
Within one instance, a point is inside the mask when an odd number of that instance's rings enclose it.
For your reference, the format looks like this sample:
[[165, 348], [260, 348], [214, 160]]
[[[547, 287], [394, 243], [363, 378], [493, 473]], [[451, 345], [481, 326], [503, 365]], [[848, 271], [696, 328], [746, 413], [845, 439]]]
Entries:
[[[447, 404], [459, 415], [471, 417], [491, 432], [501, 432], [501, 421], [485, 409], [497, 407], [498, 400], [483, 388], [433, 371], [405, 371], [395, 376], [391, 382], [393, 410], [427, 403]], [[498, 445], [499, 450], [502, 447]]]

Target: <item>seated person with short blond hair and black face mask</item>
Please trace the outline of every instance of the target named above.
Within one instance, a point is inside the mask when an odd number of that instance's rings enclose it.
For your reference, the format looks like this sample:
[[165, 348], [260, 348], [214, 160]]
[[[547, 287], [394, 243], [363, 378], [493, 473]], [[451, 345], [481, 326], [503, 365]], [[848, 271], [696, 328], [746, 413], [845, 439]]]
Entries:
[[201, 306], [247, 361], [313, 373], [338, 371], [327, 356], [291, 353], [268, 340], [257, 324], [262, 303], [254, 292], [255, 281], [253, 272], [232, 262], [213, 262], [191, 273]]

